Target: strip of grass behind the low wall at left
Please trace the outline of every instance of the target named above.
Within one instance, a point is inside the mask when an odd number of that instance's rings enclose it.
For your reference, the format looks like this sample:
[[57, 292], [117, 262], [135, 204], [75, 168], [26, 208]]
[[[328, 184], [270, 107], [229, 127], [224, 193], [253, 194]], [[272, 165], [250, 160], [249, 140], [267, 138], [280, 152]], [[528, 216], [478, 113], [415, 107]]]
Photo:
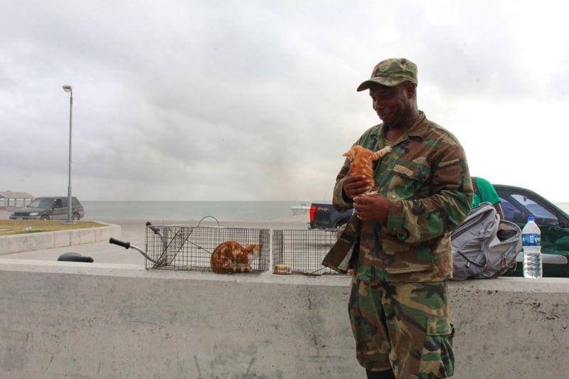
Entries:
[[65, 221], [60, 220], [0, 220], [0, 235], [54, 232], [56, 230], [101, 228], [103, 226], [107, 225], [97, 223], [95, 221], [77, 221], [73, 224], [66, 224]]

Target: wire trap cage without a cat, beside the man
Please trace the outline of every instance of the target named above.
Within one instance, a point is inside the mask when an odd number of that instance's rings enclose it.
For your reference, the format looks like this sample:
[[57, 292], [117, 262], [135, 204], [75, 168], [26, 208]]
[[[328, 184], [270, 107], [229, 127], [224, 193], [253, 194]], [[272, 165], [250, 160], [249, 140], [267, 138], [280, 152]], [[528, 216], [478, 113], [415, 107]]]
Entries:
[[336, 230], [273, 230], [272, 260], [275, 274], [339, 274], [321, 265], [336, 243]]

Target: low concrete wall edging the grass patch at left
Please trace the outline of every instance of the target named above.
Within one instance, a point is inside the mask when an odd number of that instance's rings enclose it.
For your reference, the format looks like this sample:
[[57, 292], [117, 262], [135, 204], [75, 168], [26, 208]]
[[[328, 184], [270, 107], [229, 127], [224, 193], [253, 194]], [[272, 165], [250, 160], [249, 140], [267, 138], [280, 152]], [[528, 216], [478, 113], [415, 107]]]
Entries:
[[56, 232], [29, 233], [21, 235], [5, 235], [0, 237], [0, 254], [25, 252], [81, 245], [84, 243], [109, 240], [120, 235], [119, 225], [104, 224], [100, 228], [58, 230]]

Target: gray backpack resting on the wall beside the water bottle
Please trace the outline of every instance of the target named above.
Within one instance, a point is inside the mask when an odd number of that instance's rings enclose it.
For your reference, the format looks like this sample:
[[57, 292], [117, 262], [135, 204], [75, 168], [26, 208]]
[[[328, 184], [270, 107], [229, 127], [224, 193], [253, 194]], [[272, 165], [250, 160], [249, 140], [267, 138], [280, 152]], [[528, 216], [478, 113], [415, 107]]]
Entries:
[[490, 203], [472, 208], [450, 233], [453, 279], [490, 279], [504, 274], [521, 252], [518, 225], [500, 220]]

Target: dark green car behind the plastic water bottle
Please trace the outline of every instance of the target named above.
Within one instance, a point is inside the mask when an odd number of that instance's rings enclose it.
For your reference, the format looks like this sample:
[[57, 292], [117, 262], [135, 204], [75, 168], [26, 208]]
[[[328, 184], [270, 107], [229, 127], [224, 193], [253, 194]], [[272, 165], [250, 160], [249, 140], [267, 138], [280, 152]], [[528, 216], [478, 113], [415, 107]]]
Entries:
[[[504, 218], [520, 228], [528, 217], [536, 219], [541, 230], [544, 277], [569, 277], [569, 215], [543, 196], [526, 188], [494, 184], [501, 199]], [[516, 265], [504, 276], [523, 276], [523, 252]]]

